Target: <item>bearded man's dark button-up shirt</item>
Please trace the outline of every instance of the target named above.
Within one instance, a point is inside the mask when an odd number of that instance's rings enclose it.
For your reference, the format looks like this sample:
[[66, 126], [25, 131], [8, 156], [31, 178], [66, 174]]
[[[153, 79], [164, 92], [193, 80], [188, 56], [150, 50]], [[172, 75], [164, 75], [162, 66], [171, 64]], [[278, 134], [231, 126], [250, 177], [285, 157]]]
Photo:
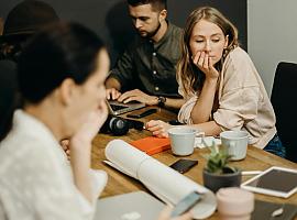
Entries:
[[138, 36], [117, 62], [109, 77], [118, 79], [121, 91], [140, 89], [148, 95], [180, 97], [176, 65], [182, 54], [183, 30], [168, 23], [160, 42]]

